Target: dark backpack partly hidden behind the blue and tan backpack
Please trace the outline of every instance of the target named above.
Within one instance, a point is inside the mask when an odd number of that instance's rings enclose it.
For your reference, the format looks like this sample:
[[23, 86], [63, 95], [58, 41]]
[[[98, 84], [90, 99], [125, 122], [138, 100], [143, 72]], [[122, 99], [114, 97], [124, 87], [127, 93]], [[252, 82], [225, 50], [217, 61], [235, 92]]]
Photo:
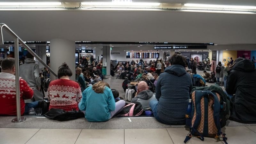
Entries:
[[[233, 107], [233, 103], [231, 102], [230, 98], [226, 95], [225, 92], [223, 92], [222, 88], [218, 85], [211, 85], [211, 86], [205, 86], [205, 87], [196, 87], [192, 90], [192, 92], [196, 90], [209, 90], [213, 93], [216, 93], [216, 95], [220, 95], [220, 127], [224, 127], [226, 125], [226, 122], [230, 116], [230, 108]], [[191, 95], [192, 95], [191, 92]]]

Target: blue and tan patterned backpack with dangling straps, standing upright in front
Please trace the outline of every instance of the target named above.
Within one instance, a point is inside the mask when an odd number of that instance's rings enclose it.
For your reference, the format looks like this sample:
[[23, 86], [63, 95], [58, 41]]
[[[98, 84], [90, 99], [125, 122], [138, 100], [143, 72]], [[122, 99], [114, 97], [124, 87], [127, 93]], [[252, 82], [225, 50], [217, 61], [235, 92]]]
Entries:
[[[191, 119], [190, 132], [184, 143], [186, 143], [192, 135], [204, 141], [204, 136], [219, 139], [220, 135], [227, 144], [225, 133], [220, 131], [220, 95], [209, 90], [196, 90], [191, 95], [191, 113], [187, 118]], [[189, 121], [188, 121], [189, 122]]]

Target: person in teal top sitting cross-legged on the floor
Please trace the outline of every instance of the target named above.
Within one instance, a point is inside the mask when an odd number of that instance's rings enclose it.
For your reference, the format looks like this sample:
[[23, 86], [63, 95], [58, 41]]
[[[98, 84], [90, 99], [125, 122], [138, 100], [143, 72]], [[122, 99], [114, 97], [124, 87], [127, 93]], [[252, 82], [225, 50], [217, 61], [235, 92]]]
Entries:
[[109, 84], [103, 81], [84, 90], [79, 109], [85, 111], [89, 122], [104, 122], [119, 113], [125, 106], [124, 100], [115, 102]]

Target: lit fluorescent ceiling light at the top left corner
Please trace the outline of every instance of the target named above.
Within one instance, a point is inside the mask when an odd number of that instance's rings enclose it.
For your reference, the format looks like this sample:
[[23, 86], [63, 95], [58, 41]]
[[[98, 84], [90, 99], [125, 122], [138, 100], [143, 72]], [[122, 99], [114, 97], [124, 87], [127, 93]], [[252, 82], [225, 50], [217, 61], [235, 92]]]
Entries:
[[60, 2], [3, 2], [0, 5], [61, 5]]

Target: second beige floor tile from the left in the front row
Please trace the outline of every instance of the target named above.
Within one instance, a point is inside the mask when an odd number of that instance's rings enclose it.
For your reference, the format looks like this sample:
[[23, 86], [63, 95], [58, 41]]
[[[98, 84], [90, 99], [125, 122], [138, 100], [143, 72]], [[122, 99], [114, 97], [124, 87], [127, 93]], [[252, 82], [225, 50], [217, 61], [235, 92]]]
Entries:
[[81, 129], [40, 129], [27, 144], [73, 144]]

